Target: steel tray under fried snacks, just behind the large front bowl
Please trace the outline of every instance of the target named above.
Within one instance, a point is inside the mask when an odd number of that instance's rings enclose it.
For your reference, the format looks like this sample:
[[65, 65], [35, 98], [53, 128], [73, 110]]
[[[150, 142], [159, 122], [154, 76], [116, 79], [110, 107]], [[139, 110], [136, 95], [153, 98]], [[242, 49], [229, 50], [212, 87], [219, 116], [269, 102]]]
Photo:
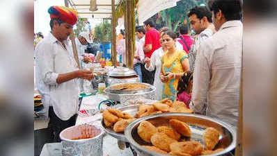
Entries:
[[[125, 107], [118, 107], [116, 109], [121, 110], [122, 112], [127, 112], [127, 113], [131, 114], [132, 116], [134, 116], [136, 114], [136, 112], [139, 111], [139, 106], [140, 105], [127, 105]], [[112, 128], [107, 128], [106, 125], [104, 124], [103, 118], [101, 120], [101, 124], [102, 124], [102, 127], [104, 128], [104, 130], [106, 131], [106, 133], [108, 133], [109, 135], [111, 135], [112, 137], [115, 137], [116, 139], [118, 139], [120, 141], [127, 142], [124, 132], [114, 132]]]

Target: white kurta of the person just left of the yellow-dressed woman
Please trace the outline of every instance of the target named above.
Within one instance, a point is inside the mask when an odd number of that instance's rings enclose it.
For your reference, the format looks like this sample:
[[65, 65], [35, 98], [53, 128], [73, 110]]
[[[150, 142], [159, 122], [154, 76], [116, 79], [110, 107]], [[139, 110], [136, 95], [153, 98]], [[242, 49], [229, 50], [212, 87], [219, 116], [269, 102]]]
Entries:
[[161, 92], [162, 92], [162, 87], [163, 83], [161, 83], [161, 79], [159, 78], [159, 73], [161, 73], [161, 57], [164, 55], [163, 49], [161, 47], [154, 51], [151, 55], [151, 62], [149, 68], [146, 67], [145, 64], [145, 69], [148, 71], [155, 71], [155, 79], [154, 79], [154, 86], [156, 87], [156, 92], [155, 92], [155, 100], [161, 100]]

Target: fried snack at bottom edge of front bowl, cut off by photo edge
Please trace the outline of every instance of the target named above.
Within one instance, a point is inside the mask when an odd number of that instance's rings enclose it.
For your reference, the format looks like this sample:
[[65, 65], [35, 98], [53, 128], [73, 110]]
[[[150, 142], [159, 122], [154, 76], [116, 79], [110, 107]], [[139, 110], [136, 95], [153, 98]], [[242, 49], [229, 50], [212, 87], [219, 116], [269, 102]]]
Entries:
[[179, 154], [189, 154], [189, 155], [200, 155], [203, 146], [197, 141], [183, 141], [183, 142], [175, 142], [170, 145], [171, 152], [179, 153]]

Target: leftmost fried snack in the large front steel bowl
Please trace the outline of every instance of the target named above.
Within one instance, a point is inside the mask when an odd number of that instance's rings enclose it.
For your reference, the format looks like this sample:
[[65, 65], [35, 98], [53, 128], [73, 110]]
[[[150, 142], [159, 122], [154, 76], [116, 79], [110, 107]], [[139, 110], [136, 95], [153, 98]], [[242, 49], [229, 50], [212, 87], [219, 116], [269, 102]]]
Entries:
[[151, 142], [150, 139], [152, 135], [158, 132], [157, 128], [148, 121], [142, 121], [141, 123], [139, 123], [139, 127], [137, 130], [139, 137], [149, 143]]

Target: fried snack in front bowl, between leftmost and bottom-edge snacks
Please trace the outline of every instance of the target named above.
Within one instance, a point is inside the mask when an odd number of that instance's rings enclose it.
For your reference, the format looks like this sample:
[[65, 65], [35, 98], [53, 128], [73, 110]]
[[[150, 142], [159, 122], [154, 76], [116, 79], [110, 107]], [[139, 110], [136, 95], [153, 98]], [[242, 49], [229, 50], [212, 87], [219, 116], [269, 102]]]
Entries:
[[166, 150], [167, 152], [170, 152], [170, 145], [174, 142], [177, 142], [175, 139], [172, 139], [171, 137], [168, 137], [166, 134], [163, 132], [157, 132], [155, 135], [151, 137], [151, 143], [161, 149], [161, 150]]

